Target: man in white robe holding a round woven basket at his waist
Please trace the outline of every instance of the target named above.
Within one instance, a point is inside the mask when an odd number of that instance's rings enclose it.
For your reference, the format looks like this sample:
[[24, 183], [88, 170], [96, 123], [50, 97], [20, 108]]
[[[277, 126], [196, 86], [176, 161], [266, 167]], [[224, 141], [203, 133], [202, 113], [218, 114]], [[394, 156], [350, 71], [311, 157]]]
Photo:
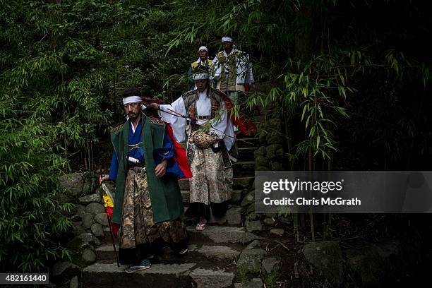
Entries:
[[185, 214], [199, 218], [196, 229], [201, 231], [212, 215], [224, 215], [232, 197], [232, 163], [228, 151], [234, 144], [235, 134], [223, 92], [209, 87], [208, 73], [197, 73], [193, 80], [196, 90], [184, 93], [172, 104], [149, 107], [160, 109], [161, 119], [171, 124], [176, 140], [187, 141], [192, 179], [190, 204]]

